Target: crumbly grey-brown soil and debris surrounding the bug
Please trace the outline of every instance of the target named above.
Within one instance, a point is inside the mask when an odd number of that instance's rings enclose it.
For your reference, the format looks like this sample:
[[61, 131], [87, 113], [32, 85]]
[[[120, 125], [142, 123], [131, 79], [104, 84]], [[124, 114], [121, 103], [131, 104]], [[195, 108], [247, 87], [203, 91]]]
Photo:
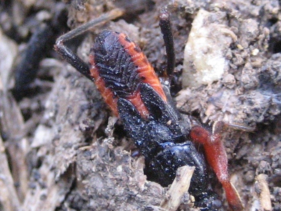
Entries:
[[[122, 123], [94, 84], [52, 48], [69, 28], [122, 8], [120, 18], [67, 45], [87, 61], [97, 33], [122, 31], [159, 73], [167, 64], [158, 26], [166, 4], [173, 5], [171, 91], [178, 109], [209, 126], [254, 129], [224, 133], [231, 181], [245, 210], [281, 210], [277, 0], [1, 1], [0, 210], [166, 210], [159, 205], [167, 188], [146, 180], [144, 159], [132, 156]], [[229, 210], [216, 179], [213, 186], [221, 210]], [[178, 210], [198, 209], [184, 197]]]

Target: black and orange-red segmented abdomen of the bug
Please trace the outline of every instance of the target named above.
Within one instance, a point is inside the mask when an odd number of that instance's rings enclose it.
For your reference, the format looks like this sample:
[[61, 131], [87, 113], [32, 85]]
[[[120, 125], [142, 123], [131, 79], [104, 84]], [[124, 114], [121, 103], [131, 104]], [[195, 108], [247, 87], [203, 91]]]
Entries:
[[116, 116], [119, 97], [129, 100], [142, 117], [148, 116], [139, 91], [140, 83], [150, 84], [167, 101], [146, 56], [123, 33], [109, 30], [101, 32], [95, 39], [89, 58], [91, 77]]

